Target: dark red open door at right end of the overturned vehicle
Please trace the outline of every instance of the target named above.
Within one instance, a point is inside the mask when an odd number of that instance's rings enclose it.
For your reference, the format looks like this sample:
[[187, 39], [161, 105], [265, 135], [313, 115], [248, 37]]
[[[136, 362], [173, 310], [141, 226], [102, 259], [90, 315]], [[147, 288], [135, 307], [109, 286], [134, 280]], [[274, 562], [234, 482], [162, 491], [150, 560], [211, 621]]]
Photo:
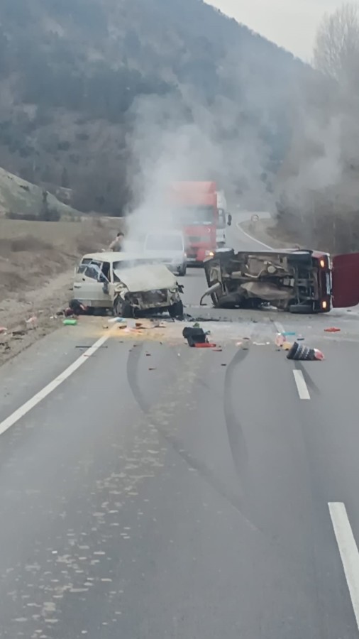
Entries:
[[359, 304], [359, 253], [333, 257], [331, 295], [333, 308]]

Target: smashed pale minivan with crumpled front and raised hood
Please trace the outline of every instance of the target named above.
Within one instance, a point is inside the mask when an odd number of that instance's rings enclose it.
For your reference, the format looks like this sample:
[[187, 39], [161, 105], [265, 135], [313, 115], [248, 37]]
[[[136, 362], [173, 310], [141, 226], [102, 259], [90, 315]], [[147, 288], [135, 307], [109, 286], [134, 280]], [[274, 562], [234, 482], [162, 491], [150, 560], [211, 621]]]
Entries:
[[168, 311], [182, 317], [183, 287], [164, 264], [132, 253], [89, 253], [75, 269], [73, 300], [90, 310], [108, 309], [121, 317]]

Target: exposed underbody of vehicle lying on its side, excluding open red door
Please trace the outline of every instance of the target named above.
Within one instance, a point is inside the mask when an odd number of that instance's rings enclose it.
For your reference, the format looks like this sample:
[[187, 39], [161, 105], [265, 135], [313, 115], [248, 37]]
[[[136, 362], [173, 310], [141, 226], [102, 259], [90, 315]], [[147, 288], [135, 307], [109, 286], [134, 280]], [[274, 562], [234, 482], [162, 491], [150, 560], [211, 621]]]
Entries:
[[[316, 262], [316, 253], [306, 250], [217, 251], [204, 264], [209, 288], [201, 303], [211, 295], [216, 307], [269, 303], [289, 312], [313, 312], [321, 293]], [[328, 288], [330, 295], [330, 283]]]

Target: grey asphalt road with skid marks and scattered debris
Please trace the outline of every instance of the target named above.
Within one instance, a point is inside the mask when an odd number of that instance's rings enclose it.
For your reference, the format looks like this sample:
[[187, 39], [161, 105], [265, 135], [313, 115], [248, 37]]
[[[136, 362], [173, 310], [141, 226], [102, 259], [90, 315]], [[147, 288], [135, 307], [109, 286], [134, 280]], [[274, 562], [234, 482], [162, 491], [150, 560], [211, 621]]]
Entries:
[[3, 366], [0, 637], [358, 638], [358, 316], [333, 317], [227, 313], [216, 351], [83, 318]]

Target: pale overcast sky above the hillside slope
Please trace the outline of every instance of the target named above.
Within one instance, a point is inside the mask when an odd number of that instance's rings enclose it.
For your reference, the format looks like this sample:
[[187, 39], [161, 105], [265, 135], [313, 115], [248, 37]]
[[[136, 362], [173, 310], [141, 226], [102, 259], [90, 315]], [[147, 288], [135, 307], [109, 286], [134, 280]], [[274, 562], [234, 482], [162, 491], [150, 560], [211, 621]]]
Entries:
[[324, 13], [335, 11], [343, 0], [206, 0], [310, 62], [316, 28]]

